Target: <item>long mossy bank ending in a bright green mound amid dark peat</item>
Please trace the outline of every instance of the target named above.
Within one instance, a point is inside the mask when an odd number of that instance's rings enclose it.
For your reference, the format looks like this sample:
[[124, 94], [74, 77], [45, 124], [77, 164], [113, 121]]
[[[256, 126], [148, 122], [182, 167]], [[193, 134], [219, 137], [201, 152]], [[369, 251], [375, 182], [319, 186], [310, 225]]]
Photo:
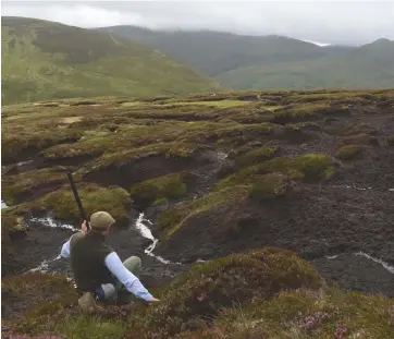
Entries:
[[306, 154], [294, 159], [281, 157], [268, 160], [263, 164], [251, 166], [221, 180], [214, 191], [237, 184], [250, 185], [257, 179], [256, 175], [279, 172], [294, 180], [316, 181], [329, 180], [335, 173], [335, 169], [327, 155]]

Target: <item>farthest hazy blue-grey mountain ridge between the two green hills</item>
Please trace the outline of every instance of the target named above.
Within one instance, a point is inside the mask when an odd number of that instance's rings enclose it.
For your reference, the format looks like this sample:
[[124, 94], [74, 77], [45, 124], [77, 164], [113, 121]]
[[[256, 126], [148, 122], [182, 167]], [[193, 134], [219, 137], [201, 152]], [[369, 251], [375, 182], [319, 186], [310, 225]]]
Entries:
[[242, 36], [211, 31], [164, 32], [135, 26], [98, 28], [157, 48], [211, 76], [251, 64], [295, 62], [335, 53], [335, 48], [283, 36]]

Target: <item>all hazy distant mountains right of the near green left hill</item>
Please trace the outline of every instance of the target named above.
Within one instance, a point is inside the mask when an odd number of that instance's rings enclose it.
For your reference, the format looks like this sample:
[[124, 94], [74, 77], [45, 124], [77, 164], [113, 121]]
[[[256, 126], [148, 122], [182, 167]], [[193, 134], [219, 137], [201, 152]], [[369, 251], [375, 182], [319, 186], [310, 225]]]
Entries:
[[394, 87], [394, 41], [319, 47], [282, 36], [103, 27], [156, 48], [234, 89]]

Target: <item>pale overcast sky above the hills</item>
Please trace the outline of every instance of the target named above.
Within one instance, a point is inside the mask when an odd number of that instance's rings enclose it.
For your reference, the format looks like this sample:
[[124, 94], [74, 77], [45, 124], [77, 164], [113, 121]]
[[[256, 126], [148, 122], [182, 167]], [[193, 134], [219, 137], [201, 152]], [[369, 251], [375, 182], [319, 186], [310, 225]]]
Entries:
[[394, 1], [1, 1], [1, 15], [79, 27], [137, 25], [278, 34], [323, 44], [394, 40]]

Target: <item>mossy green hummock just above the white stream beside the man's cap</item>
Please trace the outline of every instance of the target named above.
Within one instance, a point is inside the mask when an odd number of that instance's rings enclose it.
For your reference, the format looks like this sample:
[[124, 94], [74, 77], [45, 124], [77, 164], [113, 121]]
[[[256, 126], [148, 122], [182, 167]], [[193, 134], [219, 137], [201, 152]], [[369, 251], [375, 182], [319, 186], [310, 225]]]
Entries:
[[180, 198], [187, 194], [187, 184], [192, 183], [194, 178], [195, 174], [184, 171], [146, 180], [132, 186], [131, 196], [137, 205], [144, 207]]

